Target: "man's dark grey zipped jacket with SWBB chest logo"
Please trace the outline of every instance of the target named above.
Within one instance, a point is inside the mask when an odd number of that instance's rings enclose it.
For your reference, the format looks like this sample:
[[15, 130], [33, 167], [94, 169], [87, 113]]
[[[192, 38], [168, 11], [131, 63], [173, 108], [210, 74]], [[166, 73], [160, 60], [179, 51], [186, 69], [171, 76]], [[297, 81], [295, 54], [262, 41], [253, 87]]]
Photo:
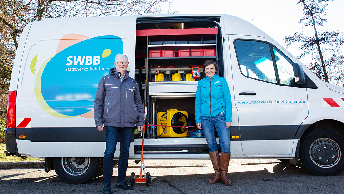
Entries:
[[144, 125], [139, 85], [128, 71], [122, 81], [116, 67], [100, 79], [94, 99], [94, 119], [97, 127], [134, 127], [137, 121]]

